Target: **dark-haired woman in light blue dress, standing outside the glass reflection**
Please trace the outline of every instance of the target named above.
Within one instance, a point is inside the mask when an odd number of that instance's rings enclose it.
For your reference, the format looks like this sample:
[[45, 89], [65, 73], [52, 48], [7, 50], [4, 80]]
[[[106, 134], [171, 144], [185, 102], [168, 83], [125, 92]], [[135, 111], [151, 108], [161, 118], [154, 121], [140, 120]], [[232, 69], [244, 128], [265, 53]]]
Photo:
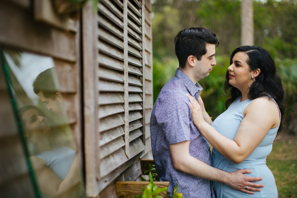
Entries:
[[226, 73], [225, 90], [231, 97], [226, 100], [228, 109], [212, 123], [202, 99], [190, 97], [190, 108], [195, 126], [213, 145], [212, 166], [232, 172], [243, 168], [252, 170], [249, 176], [262, 177], [264, 187], [254, 190], [244, 186], [232, 189], [214, 182], [217, 197], [277, 197], [277, 187], [266, 166], [266, 156], [281, 126], [284, 113], [284, 91], [270, 54], [261, 47], [236, 48]]

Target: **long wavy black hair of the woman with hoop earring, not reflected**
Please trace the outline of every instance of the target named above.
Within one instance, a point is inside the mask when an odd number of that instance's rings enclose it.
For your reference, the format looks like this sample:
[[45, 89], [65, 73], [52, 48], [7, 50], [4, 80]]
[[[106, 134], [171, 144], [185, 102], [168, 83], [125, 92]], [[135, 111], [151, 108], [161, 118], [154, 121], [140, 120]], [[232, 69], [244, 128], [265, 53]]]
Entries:
[[[244, 52], [248, 55], [247, 64], [251, 70], [260, 69], [260, 74], [255, 77], [255, 82], [252, 83], [249, 88], [248, 98], [256, 99], [262, 96], [271, 96], [277, 105], [281, 115], [285, 112], [285, 102], [284, 96], [285, 91], [283, 89], [282, 80], [279, 75], [276, 73], [276, 66], [271, 58], [269, 52], [262, 47], [256, 46], [242, 46], [236, 48], [230, 56], [230, 65], [232, 64], [233, 56], [237, 52]], [[241, 92], [238, 88], [233, 87], [229, 84], [229, 71], [226, 73], [226, 80], [224, 84], [225, 92], [228, 90], [231, 97], [228, 98], [225, 102], [226, 109], [228, 106], [238, 97], [241, 96]], [[278, 132], [282, 127], [282, 116], [281, 123]]]

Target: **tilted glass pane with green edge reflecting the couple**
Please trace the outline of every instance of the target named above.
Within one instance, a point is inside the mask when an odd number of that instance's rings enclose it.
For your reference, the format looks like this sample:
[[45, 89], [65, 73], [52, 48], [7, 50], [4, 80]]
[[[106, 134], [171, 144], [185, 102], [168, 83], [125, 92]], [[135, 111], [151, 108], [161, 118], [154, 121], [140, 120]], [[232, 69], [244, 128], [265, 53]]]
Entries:
[[37, 197], [85, 197], [53, 58], [5, 49], [1, 65]]

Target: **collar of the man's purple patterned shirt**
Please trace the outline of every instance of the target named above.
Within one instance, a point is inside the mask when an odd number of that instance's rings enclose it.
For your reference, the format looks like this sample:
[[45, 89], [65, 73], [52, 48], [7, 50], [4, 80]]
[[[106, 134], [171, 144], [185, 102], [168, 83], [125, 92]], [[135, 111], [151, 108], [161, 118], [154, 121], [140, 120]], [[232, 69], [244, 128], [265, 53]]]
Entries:
[[193, 83], [193, 81], [184, 73], [182, 72], [180, 69], [176, 69], [175, 75], [181, 79], [181, 81], [184, 82], [184, 85], [187, 87], [188, 91], [190, 92], [190, 94], [195, 97], [196, 99], [198, 99], [198, 97], [200, 96], [201, 90], [203, 89], [199, 83], [197, 82], [196, 84]]

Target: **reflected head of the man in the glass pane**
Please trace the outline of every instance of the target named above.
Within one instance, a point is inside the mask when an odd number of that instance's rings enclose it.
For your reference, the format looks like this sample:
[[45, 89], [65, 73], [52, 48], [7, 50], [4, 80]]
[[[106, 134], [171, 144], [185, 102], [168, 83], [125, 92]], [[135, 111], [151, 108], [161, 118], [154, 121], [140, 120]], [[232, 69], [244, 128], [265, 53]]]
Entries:
[[46, 104], [48, 110], [63, 115], [61, 108], [63, 97], [57, 89], [58, 83], [55, 83], [57, 80], [54, 76], [54, 68], [49, 68], [41, 72], [33, 82], [33, 90], [34, 93], [40, 97], [42, 102]]

